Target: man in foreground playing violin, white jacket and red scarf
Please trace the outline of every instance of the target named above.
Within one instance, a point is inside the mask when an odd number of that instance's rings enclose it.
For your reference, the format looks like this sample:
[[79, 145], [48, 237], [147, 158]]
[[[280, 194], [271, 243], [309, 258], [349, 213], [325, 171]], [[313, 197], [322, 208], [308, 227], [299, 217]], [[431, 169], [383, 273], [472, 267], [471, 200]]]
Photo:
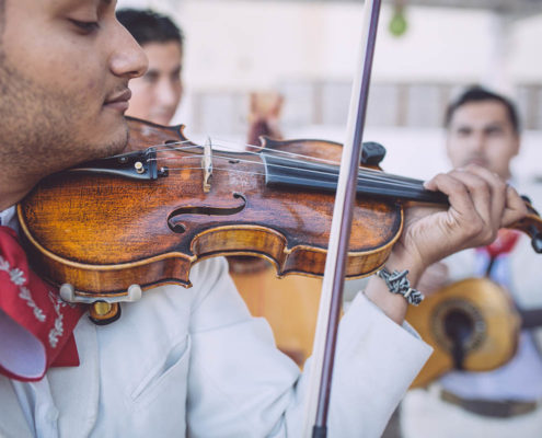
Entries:
[[[44, 176], [123, 151], [129, 81], [147, 59], [114, 0], [3, 0], [0, 13], [0, 435], [301, 436], [307, 378], [250, 316], [223, 260], [197, 264], [191, 289], [145, 292], [106, 326], [79, 318], [84, 310], [27, 267], [13, 206]], [[526, 214], [478, 166], [426, 187], [450, 208], [410, 209], [387, 262], [413, 285], [428, 264], [491, 242]], [[379, 436], [427, 359], [430, 348], [402, 325], [406, 307], [373, 278], [343, 318], [330, 436]]]

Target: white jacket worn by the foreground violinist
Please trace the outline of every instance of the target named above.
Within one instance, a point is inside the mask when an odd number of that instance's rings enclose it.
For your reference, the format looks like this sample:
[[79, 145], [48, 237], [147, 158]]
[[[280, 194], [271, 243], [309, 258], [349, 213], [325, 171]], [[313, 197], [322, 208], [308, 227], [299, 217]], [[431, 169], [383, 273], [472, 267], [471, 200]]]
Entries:
[[[111, 325], [83, 316], [81, 366], [37, 385], [0, 377], [0, 436], [301, 437], [305, 376], [251, 318], [224, 260], [191, 279], [145, 292]], [[328, 436], [379, 437], [429, 354], [359, 295], [339, 331]]]

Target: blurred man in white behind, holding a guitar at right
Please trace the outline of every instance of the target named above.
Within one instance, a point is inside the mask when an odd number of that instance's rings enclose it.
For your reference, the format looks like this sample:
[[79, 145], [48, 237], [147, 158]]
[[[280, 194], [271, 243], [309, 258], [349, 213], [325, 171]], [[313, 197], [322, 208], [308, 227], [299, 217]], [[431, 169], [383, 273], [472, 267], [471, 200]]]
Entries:
[[[478, 87], [465, 90], [446, 115], [451, 164], [477, 164], [514, 184], [510, 163], [520, 149], [519, 125], [516, 107], [505, 96]], [[431, 292], [451, 281], [486, 277], [507, 289], [519, 308], [540, 308], [540, 260], [530, 246], [523, 235], [501, 230], [491, 246], [463, 251], [429, 267], [419, 287]], [[542, 358], [534, 341], [533, 332], [523, 330], [516, 355], [505, 366], [452, 371], [428, 390], [410, 392], [402, 404], [405, 437], [539, 437]]]

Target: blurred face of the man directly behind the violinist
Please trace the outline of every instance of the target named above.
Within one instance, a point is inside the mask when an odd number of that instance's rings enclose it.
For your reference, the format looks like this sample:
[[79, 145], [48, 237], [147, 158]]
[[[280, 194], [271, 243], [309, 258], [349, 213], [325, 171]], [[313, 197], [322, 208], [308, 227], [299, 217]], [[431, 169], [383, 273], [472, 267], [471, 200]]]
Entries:
[[145, 44], [149, 69], [130, 82], [132, 97], [128, 115], [169, 125], [183, 92], [183, 50], [177, 42]]

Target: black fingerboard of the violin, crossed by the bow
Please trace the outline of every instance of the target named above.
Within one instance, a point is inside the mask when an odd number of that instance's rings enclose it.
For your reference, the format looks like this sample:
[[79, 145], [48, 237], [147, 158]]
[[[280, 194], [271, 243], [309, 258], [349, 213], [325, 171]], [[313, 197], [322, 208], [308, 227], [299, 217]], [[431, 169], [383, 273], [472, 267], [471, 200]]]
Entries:
[[[292, 160], [274, 153], [262, 153], [268, 186], [299, 187], [335, 193], [338, 168], [318, 162]], [[370, 169], [360, 169], [357, 193], [374, 197], [415, 200], [448, 205], [448, 197], [440, 192], [424, 188], [424, 182], [404, 176], [391, 175]]]

